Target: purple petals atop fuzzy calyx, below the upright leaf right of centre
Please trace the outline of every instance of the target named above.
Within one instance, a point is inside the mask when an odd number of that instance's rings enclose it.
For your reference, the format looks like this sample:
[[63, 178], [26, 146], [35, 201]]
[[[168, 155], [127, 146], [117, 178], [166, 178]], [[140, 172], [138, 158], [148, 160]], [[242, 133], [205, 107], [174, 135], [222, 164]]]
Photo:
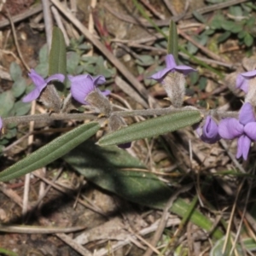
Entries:
[[184, 75], [187, 75], [188, 73], [196, 70], [189, 66], [184, 66], [184, 65], [177, 66], [173, 55], [166, 55], [166, 67], [160, 70], [158, 73], [155, 73], [154, 75], [152, 75], [150, 79], [154, 79], [154, 80], [157, 80], [158, 82], [162, 82], [162, 80], [165, 78], [167, 73], [175, 72], [175, 71], [179, 73], [183, 73]]

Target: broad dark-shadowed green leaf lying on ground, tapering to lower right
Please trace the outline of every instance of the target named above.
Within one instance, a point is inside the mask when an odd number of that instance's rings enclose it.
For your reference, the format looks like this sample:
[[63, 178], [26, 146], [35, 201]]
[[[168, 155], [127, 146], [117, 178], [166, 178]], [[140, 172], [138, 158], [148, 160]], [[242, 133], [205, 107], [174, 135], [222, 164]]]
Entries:
[[[145, 172], [145, 166], [139, 160], [114, 146], [101, 148], [87, 141], [63, 159], [90, 182], [143, 206], [164, 209], [175, 191], [153, 173]], [[171, 211], [183, 217], [189, 211], [189, 204], [178, 198]], [[204, 230], [212, 229], [212, 222], [197, 210], [192, 212], [189, 220]], [[219, 239], [223, 234], [215, 230], [212, 236]]]

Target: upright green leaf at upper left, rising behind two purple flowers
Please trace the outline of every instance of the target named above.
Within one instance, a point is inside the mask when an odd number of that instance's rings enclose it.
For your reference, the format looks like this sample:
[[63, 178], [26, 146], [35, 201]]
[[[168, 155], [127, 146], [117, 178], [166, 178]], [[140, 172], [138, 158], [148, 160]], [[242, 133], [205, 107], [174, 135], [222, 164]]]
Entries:
[[61, 29], [55, 26], [52, 32], [52, 43], [49, 52], [49, 76], [55, 73], [62, 73], [66, 76], [66, 72], [66, 44]]

